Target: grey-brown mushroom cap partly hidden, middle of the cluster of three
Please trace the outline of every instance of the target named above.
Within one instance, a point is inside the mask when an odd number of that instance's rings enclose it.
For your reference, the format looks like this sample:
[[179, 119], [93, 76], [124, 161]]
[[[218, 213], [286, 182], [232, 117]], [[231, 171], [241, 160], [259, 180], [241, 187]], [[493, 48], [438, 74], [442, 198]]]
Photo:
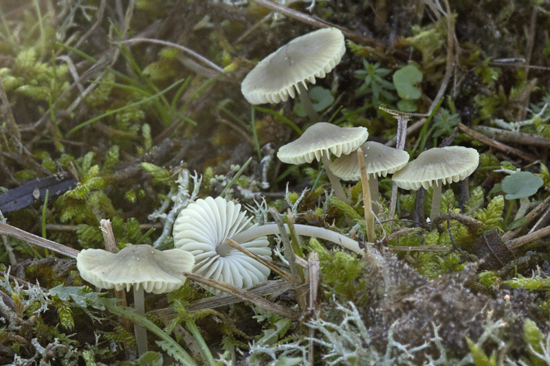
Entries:
[[[397, 150], [375, 141], [361, 145], [368, 179], [386, 176], [401, 170], [408, 163], [408, 152]], [[357, 154], [342, 155], [329, 166], [331, 172], [344, 181], [358, 181], [361, 171]]]

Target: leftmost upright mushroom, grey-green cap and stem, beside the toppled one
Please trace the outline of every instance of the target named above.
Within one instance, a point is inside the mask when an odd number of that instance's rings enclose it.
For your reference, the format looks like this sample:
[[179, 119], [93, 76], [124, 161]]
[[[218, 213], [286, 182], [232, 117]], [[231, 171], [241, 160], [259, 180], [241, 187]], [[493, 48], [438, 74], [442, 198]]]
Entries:
[[[144, 294], [169, 293], [184, 285], [183, 271], [190, 271], [195, 258], [191, 253], [170, 249], [159, 251], [150, 245], [131, 245], [110, 253], [102, 249], [84, 249], [76, 256], [80, 277], [99, 288], [125, 289], [133, 286], [134, 307], [144, 315]], [[147, 352], [144, 328], [135, 325], [135, 340], [140, 354]]]

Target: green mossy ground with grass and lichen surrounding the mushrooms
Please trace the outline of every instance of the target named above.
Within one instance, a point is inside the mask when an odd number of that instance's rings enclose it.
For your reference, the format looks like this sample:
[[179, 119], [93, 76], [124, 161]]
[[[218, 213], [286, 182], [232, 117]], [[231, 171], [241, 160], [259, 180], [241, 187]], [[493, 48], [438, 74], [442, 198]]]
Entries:
[[[230, 2], [2, 1], [0, 190], [60, 172], [76, 181], [67, 192], [49, 192], [47, 201], [41, 196], [5, 212], [4, 222], [81, 250], [103, 247], [99, 220], [108, 218], [119, 249], [136, 243], [167, 249], [173, 207], [223, 194], [253, 207], [260, 224], [271, 220], [268, 207], [290, 208], [295, 223], [364, 238], [361, 183], [346, 185], [348, 206], [327, 197], [322, 165], [276, 158], [309, 126], [294, 113], [296, 102], [253, 109], [240, 92], [254, 62], [316, 28]], [[311, 13], [309, 5], [296, 1], [291, 8], [364, 35], [348, 41], [340, 65], [317, 82], [324, 88], [319, 95], [330, 91], [334, 100], [320, 112], [323, 120], [364, 126], [369, 139], [387, 142], [397, 124], [378, 106], [428, 111], [451, 56], [439, 108], [406, 141], [412, 158], [441, 144], [459, 123], [550, 138], [547, 3], [453, 0], [450, 19], [438, 1], [316, 1]], [[225, 73], [175, 47], [120, 43], [131, 38], [183, 45]], [[542, 68], [498, 58], [525, 58]], [[453, 145], [476, 148], [480, 163], [467, 185], [444, 187], [440, 212], [456, 214], [450, 220], [423, 223], [431, 189], [423, 204], [401, 190], [396, 216], [389, 217], [391, 181], [381, 179], [379, 262], [304, 238], [300, 250], [305, 258], [318, 253], [321, 282], [318, 308], [303, 322], [243, 302], [189, 312], [186, 304], [209, 296], [190, 281], [168, 296], [146, 295], [146, 309], [168, 308], [170, 316], [137, 319], [150, 334], [151, 352], [140, 360], [120, 320], [131, 310], [117, 306], [111, 293], [85, 287], [75, 260], [5, 236], [0, 364], [191, 364], [188, 354], [208, 365], [212, 355], [219, 364], [299, 365], [309, 363], [314, 334], [318, 365], [550, 365], [549, 240], [530, 242], [514, 251], [516, 259], [492, 267], [482, 264], [474, 244], [489, 229], [503, 235], [525, 224], [525, 214], [549, 196], [548, 148], [505, 143], [523, 156], [462, 132], [454, 137]], [[522, 201], [507, 200], [500, 183], [517, 170], [540, 176], [543, 187]], [[353, 229], [344, 213], [355, 220]], [[419, 246], [448, 250], [397, 250]], [[279, 242], [273, 247], [282, 250]], [[17, 285], [8, 272], [32, 285]], [[293, 291], [270, 301], [298, 310]]]

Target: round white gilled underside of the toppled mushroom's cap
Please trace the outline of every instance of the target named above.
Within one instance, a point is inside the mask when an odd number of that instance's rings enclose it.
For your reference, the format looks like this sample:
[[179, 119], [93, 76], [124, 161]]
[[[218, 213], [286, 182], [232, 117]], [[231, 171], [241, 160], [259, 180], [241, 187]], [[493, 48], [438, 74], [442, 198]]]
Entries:
[[[221, 197], [199, 199], [179, 213], [173, 229], [174, 245], [195, 255], [192, 273], [241, 288], [250, 287], [267, 281], [270, 268], [225, 244], [226, 238], [252, 227], [250, 220], [239, 204]], [[265, 236], [241, 244], [271, 260], [270, 242]], [[219, 293], [210, 286], [203, 288], [214, 295]]]

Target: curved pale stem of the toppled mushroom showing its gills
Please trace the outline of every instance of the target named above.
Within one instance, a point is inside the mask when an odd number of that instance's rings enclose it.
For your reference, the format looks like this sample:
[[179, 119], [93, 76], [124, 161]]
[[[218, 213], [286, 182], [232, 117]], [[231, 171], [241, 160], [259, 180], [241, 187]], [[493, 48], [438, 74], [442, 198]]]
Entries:
[[[361, 249], [359, 247], [359, 243], [357, 241], [350, 239], [347, 236], [343, 236], [340, 233], [336, 233], [335, 231], [325, 229], [324, 227], [314, 227], [309, 225], [298, 225], [298, 224], [294, 224], [294, 229], [296, 229], [296, 234], [298, 235], [313, 236], [315, 238], [328, 240], [329, 242], [340, 244], [342, 247], [349, 249], [350, 251], [353, 251], [360, 255], [365, 255], [364, 249]], [[285, 224], [285, 230], [287, 231], [287, 233], [290, 233], [288, 229], [288, 225], [286, 224]], [[268, 225], [252, 227], [251, 229], [241, 231], [240, 233], [236, 234], [236, 236], [233, 236], [233, 238], [231, 239], [238, 242], [239, 244], [242, 244], [250, 240], [260, 238], [261, 236], [275, 235], [278, 233], [279, 233], [279, 229], [277, 224], [268, 224]], [[225, 243], [220, 244], [219, 247], [221, 245], [227, 245], [227, 244]]]

